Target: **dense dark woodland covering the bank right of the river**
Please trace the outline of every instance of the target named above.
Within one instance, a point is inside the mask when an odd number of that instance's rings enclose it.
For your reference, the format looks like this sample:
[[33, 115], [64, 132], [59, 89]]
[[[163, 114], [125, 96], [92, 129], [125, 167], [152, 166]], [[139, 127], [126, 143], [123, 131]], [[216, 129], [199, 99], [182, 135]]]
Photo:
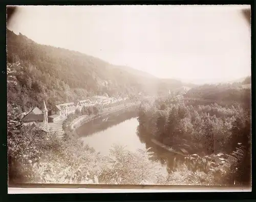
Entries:
[[227, 155], [226, 183], [250, 182], [250, 89], [203, 85], [183, 96], [148, 100], [141, 104], [138, 120], [141, 141], [154, 138], [200, 157]]

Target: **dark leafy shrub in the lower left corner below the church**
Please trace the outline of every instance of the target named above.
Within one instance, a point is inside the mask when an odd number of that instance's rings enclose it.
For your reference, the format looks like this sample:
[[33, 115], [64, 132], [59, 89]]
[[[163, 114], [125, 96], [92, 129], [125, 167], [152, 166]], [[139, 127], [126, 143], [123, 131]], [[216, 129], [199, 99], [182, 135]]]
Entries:
[[48, 148], [46, 142], [49, 136], [31, 125], [23, 125], [17, 133], [8, 132], [8, 135], [10, 133], [9, 139], [17, 146], [13, 150], [12, 145], [8, 145], [9, 180], [14, 183], [28, 182], [34, 179], [32, 167], [42, 157], [42, 149]]

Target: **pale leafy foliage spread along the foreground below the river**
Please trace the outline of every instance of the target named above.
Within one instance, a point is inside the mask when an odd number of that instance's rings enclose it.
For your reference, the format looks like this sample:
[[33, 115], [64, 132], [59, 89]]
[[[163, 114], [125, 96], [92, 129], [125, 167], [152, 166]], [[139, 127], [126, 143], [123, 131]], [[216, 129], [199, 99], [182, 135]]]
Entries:
[[29, 128], [22, 134], [32, 143], [20, 146], [9, 162], [10, 183], [216, 185], [213, 174], [193, 173], [186, 165], [168, 174], [148, 159], [148, 150], [114, 145], [109, 156], [102, 156], [77, 140], [35, 135]]

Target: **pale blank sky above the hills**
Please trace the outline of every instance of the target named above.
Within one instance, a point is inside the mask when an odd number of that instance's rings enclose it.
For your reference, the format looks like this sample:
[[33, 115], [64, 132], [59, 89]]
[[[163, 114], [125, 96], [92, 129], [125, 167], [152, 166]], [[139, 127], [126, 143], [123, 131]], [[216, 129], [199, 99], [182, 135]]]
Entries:
[[250, 6], [20, 6], [8, 29], [159, 78], [214, 83], [251, 75], [243, 8]]

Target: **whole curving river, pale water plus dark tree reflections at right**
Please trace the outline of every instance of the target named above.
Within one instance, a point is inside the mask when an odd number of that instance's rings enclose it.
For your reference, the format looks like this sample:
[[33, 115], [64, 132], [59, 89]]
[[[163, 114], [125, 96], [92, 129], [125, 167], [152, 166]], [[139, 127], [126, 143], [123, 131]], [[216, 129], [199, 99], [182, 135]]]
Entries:
[[193, 172], [209, 171], [209, 167], [206, 168], [208, 162], [190, 161], [177, 153], [177, 150], [170, 152], [166, 146], [159, 145], [152, 135], [146, 134], [138, 127], [137, 116], [138, 113], [134, 109], [118, 111], [82, 124], [76, 129], [76, 133], [84, 144], [104, 156], [110, 154], [113, 144], [124, 146], [131, 152], [146, 148], [151, 153], [148, 154], [148, 159], [157, 163], [159, 171], [162, 170], [164, 174], [179, 171], [182, 165]]

